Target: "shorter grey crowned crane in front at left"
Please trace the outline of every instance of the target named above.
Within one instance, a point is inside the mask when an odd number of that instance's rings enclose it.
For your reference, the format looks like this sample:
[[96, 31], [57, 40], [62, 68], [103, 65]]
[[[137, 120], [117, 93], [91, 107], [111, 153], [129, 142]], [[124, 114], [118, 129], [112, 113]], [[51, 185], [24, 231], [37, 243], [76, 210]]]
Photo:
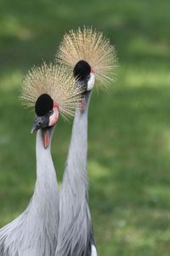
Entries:
[[0, 230], [1, 256], [52, 256], [59, 226], [59, 191], [50, 147], [59, 114], [73, 115], [78, 90], [75, 81], [53, 64], [34, 67], [26, 75], [21, 98], [35, 106], [37, 181], [26, 210]]

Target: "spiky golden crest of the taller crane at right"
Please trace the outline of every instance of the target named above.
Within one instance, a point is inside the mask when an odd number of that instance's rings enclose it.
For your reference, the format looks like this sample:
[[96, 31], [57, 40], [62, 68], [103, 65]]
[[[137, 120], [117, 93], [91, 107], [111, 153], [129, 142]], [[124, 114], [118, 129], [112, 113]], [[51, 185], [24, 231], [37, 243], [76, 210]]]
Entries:
[[102, 87], [115, 81], [115, 47], [102, 32], [97, 32], [92, 27], [66, 33], [59, 45], [56, 59], [71, 71], [78, 61], [87, 61], [94, 70], [96, 82]]

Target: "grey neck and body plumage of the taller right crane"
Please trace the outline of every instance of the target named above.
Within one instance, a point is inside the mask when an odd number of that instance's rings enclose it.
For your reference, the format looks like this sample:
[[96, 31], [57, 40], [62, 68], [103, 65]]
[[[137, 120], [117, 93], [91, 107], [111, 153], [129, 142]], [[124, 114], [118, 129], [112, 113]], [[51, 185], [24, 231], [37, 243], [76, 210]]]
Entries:
[[[89, 102], [91, 92], [86, 95]], [[77, 108], [63, 183], [59, 193], [59, 233], [55, 256], [90, 256], [95, 245], [88, 208], [88, 106]]]

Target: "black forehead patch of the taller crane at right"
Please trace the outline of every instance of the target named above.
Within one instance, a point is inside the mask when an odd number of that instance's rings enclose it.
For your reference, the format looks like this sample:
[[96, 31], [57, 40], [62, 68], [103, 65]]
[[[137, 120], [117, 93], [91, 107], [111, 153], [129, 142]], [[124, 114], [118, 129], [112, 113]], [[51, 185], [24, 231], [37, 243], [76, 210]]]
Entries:
[[85, 79], [91, 71], [91, 67], [89, 66], [88, 62], [86, 61], [78, 61], [76, 66], [74, 67], [73, 73], [74, 76], [77, 77], [79, 80]]

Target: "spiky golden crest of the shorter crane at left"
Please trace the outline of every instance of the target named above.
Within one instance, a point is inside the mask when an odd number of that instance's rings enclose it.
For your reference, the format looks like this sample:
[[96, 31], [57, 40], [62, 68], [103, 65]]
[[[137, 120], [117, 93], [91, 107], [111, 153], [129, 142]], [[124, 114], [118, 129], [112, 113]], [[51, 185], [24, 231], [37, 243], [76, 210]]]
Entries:
[[37, 98], [47, 93], [58, 105], [59, 113], [66, 119], [74, 115], [81, 92], [75, 88], [75, 79], [68, 70], [43, 62], [41, 67], [33, 67], [27, 73], [20, 98], [26, 107], [33, 107]]

